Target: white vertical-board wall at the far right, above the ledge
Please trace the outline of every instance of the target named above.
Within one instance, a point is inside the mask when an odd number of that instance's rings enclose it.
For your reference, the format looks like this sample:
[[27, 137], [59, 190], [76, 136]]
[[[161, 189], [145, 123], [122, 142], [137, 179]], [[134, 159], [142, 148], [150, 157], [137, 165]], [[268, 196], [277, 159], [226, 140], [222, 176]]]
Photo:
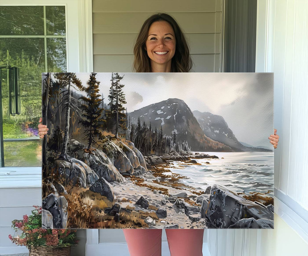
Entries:
[[[287, 194], [308, 211], [308, 1], [295, 2], [290, 163]], [[285, 108], [284, 108], [285, 109]], [[289, 120], [287, 120], [288, 122]]]

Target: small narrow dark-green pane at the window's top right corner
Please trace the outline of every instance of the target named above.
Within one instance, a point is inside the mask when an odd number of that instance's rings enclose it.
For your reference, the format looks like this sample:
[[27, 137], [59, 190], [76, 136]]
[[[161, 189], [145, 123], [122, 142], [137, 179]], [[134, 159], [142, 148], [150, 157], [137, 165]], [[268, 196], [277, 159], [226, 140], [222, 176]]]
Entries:
[[65, 6], [46, 6], [46, 34], [65, 35]]

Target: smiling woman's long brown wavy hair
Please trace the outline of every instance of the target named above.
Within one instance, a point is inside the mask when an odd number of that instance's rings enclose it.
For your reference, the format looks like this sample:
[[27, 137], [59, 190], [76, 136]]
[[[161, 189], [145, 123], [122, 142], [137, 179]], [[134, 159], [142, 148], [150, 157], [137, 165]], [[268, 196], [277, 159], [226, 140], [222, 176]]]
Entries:
[[143, 23], [134, 46], [133, 70], [135, 72], [152, 72], [150, 58], [145, 50], [145, 43], [148, 38], [149, 28], [156, 21], [168, 22], [175, 33], [176, 47], [171, 60], [171, 72], [189, 72], [193, 67], [193, 62], [189, 55], [185, 35], [176, 20], [166, 13], [153, 14]]

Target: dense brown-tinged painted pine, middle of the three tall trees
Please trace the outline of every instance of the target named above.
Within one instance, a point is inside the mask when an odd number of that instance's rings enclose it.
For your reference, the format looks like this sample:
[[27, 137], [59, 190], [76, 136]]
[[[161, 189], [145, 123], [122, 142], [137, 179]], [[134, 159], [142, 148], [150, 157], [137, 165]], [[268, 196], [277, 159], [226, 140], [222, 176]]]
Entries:
[[99, 92], [99, 81], [95, 78], [96, 73], [90, 74], [90, 79], [87, 86], [79, 85], [80, 91], [85, 91], [87, 96], [81, 96], [79, 99], [83, 100], [82, 119], [79, 123], [83, 126], [85, 140], [88, 141], [88, 151], [91, 151], [93, 143], [95, 143], [95, 136], [101, 136], [98, 128], [106, 121], [102, 118], [104, 109], [102, 106], [102, 96]]

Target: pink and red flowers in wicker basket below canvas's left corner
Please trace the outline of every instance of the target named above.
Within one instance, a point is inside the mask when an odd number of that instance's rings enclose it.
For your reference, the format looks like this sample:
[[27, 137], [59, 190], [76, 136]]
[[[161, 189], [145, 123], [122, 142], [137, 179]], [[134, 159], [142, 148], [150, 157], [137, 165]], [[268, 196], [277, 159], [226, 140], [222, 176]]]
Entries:
[[12, 228], [15, 233], [22, 231], [21, 235], [12, 237], [13, 243], [26, 246], [29, 249], [29, 256], [69, 256], [71, 246], [76, 246], [77, 230], [69, 229], [42, 229], [42, 207], [33, 205], [32, 215], [23, 216], [23, 220], [12, 221]]

